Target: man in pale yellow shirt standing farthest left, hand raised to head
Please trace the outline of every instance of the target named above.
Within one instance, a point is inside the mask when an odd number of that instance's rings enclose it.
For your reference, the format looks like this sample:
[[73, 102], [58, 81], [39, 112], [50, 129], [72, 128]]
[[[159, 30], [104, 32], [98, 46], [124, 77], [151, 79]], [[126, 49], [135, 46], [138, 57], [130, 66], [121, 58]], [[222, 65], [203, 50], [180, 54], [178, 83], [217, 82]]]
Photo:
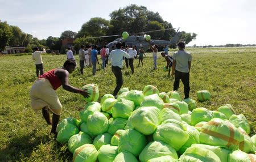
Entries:
[[43, 51], [39, 51], [39, 48], [35, 48], [35, 52], [32, 53], [32, 59], [35, 60], [35, 66], [36, 66], [36, 76], [44, 74], [44, 67], [43, 67], [43, 61], [42, 61], [42, 53], [46, 53], [46, 49], [43, 48]]

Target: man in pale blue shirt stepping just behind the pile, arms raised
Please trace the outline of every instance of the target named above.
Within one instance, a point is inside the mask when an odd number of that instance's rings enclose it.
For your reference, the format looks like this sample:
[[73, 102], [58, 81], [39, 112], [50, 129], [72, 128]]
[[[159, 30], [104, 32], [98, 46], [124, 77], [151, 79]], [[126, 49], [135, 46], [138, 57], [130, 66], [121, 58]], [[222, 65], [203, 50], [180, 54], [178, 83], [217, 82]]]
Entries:
[[112, 62], [112, 72], [115, 75], [117, 86], [114, 89], [113, 95], [117, 97], [118, 91], [123, 85], [122, 67], [123, 57], [129, 58], [129, 54], [121, 50], [122, 43], [117, 42], [115, 45], [117, 49], [112, 50], [109, 54], [109, 60]]

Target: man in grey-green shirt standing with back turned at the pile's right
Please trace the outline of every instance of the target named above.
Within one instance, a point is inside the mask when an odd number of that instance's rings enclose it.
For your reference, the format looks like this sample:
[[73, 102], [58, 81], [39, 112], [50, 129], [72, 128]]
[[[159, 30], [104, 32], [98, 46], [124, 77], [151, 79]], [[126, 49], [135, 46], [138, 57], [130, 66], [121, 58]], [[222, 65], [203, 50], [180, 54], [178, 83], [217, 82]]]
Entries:
[[189, 97], [189, 71], [191, 68], [192, 56], [185, 51], [185, 42], [178, 43], [179, 50], [172, 56], [174, 58], [172, 66], [172, 76], [175, 75], [174, 91], [177, 91], [180, 79], [184, 85], [185, 99]]

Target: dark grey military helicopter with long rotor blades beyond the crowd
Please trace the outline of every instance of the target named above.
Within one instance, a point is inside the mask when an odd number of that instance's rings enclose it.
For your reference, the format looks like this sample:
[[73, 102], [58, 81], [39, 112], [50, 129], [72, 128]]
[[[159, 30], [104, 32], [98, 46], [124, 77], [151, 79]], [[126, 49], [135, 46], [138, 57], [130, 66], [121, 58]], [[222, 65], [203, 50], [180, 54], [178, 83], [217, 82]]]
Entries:
[[[137, 33], [137, 35], [143, 35], [146, 33], [150, 33], [150, 32], [157, 32], [157, 31], [166, 31], [166, 30], [170, 30], [170, 29], [175, 29], [175, 28], [168, 28], [168, 29], [160, 29], [160, 30], [155, 30], [155, 31], [147, 31], [147, 32], [141, 32], [141, 33]], [[121, 36], [121, 35], [112, 35], [112, 36], [100, 36], [100, 37], [90, 37], [91, 39], [94, 38], [101, 38], [101, 37], [116, 37], [116, 36]], [[176, 45], [176, 42], [179, 40], [179, 36], [180, 36], [180, 32], [179, 32], [179, 28], [176, 31], [176, 35], [172, 38], [172, 40], [167, 41], [167, 40], [146, 40], [146, 38], [144, 36], [128, 36], [126, 39], [123, 39], [122, 37], [119, 37], [118, 39], [115, 39], [112, 42], [109, 42], [109, 44], [107, 45], [109, 50], [113, 50], [115, 49], [115, 44], [118, 41], [121, 41], [123, 46], [137, 46], [137, 49], [139, 48], [143, 48], [144, 50], [147, 50], [150, 48], [151, 45], [158, 45], [158, 46], [171, 46], [171, 45]]]

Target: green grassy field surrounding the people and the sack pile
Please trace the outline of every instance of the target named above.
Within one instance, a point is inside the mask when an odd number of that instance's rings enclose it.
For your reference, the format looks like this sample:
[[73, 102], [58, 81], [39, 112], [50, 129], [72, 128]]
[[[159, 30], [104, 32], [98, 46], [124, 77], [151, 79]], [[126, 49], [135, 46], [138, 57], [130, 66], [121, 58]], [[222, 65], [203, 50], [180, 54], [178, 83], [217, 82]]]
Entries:
[[[187, 51], [193, 57], [190, 97], [196, 100], [196, 91], [203, 89], [212, 95], [210, 101], [197, 102], [197, 106], [216, 110], [221, 105], [231, 104], [238, 114], [245, 115], [251, 125], [251, 135], [255, 134], [256, 48], [189, 48]], [[44, 71], [61, 67], [65, 59], [65, 55], [44, 54]], [[76, 56], [76, 59], [79, 60], [79, 57]], [[160, 54], [158, 70], [152, 70], [151, 53], [147, 53], [143, 61], [144, 66], [137, 67], [138, 59], [135, 59], [133, 75], [130, 69], [122, 70], [123, 87], [142, 90], [151, 84], [160, 92], [171, 91], [174, 79], [163, 71], [166, 62]], [[31, 109], [29, 91], [36, 80], [31, 56], [0, 56], [0, 74], [0, 161], [71, 161], [72, 154], [67, 146], [57, 143], [49, 135], [51, 127], [46, 124], [41, 112], [35, 113]], [[98, 65], [96, 76], [92, 76], [92, 69], [89, 68], [85, 68], [85, 74], [80, 75], [78, 66], [69, 82], [75, 87], [97, 83], [100, 96], [113, 93], [115, 87], [110, 66], [104, 71]], [[179, 92], [184, 97], [181, 82]], [[69, 116], [79, 118], [79, 110], [85, 106], [81, 96], [63, 88], [59, 88], [57, 94], [63, 105], [61, 120]]]

